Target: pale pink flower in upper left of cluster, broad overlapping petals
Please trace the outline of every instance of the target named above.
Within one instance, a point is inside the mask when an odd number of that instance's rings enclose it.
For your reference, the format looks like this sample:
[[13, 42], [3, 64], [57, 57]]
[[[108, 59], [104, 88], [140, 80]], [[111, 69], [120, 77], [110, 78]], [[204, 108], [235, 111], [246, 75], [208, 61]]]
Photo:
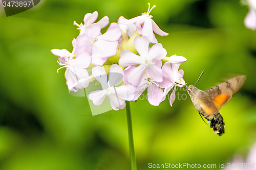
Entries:
[[109, 29], [101, 35], [98, 23], [93, 23], [87, 29], [87, 35], [77, 37], [77, 53], [88, 52], [92, 54], [92, 64], [103, 65], [108, 57], [117, 52], [118, 39], [121, 31], [117, 23], [111, 23]]

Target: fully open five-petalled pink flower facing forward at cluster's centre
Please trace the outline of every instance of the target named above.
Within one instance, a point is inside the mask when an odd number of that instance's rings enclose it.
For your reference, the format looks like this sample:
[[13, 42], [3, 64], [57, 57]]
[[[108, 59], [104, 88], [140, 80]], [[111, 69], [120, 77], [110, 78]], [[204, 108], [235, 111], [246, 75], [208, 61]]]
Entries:
[[155, 81], [162, 81], [161, 59], [166, 56], [167, 52], [161, 43], [153, 45], [150, 50], [148, 50], [148, 44], [149, 41], [147, 37], [136, 37], [134, 39], [134, 46], [140, 56], [128, 50], [121, 53], [119, 65], [123, 67], [138, 65], [127, 77], [127, 81], [134, 86], [140, 83], [144, 71], [148, 71]]

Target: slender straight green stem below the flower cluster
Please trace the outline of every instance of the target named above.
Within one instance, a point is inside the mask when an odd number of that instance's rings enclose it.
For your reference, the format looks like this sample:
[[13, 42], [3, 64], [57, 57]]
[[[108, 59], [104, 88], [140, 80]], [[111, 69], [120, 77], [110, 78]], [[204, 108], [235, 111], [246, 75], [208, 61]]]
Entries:
[[137, 170], [134, 142], [133, 142], [132, 115], [131, 115], [131, 107], [130, 107], [129, 101], [126, 101], [126, 115], [127, 115], [127, 125], [128, 125], [131, 167], [132, 167], [132, 170]]

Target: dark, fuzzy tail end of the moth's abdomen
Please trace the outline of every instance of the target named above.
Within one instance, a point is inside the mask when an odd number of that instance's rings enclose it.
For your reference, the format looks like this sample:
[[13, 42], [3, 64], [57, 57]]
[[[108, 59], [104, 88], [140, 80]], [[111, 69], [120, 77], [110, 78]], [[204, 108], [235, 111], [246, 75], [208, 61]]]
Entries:
[[[207, 116], [205, 118], [207, 118]], [[215, 133], [217, 133], [219, 136], [225, 133], [225, 129], [224, 129], [225, 123], [220, 112], [216, 112], [214, 116], [208, 120], [210, 120], [210, 127], [214, 129]]]

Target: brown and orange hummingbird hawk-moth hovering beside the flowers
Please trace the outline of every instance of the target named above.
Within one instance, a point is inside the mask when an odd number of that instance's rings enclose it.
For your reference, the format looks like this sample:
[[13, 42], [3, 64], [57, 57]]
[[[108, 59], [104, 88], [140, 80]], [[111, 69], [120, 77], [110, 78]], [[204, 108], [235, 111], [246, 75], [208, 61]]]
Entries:
[[214, 132], [219, 136], [225, 133], [225, 123], [219, 109], [243, 86], [245, 79], [246, 76], [237, 76], [205, 91], [193, 85], [186, 87], [191, 101], [200, 116], [203, 115], [208, 120], [210, 128], [214, 129]]

